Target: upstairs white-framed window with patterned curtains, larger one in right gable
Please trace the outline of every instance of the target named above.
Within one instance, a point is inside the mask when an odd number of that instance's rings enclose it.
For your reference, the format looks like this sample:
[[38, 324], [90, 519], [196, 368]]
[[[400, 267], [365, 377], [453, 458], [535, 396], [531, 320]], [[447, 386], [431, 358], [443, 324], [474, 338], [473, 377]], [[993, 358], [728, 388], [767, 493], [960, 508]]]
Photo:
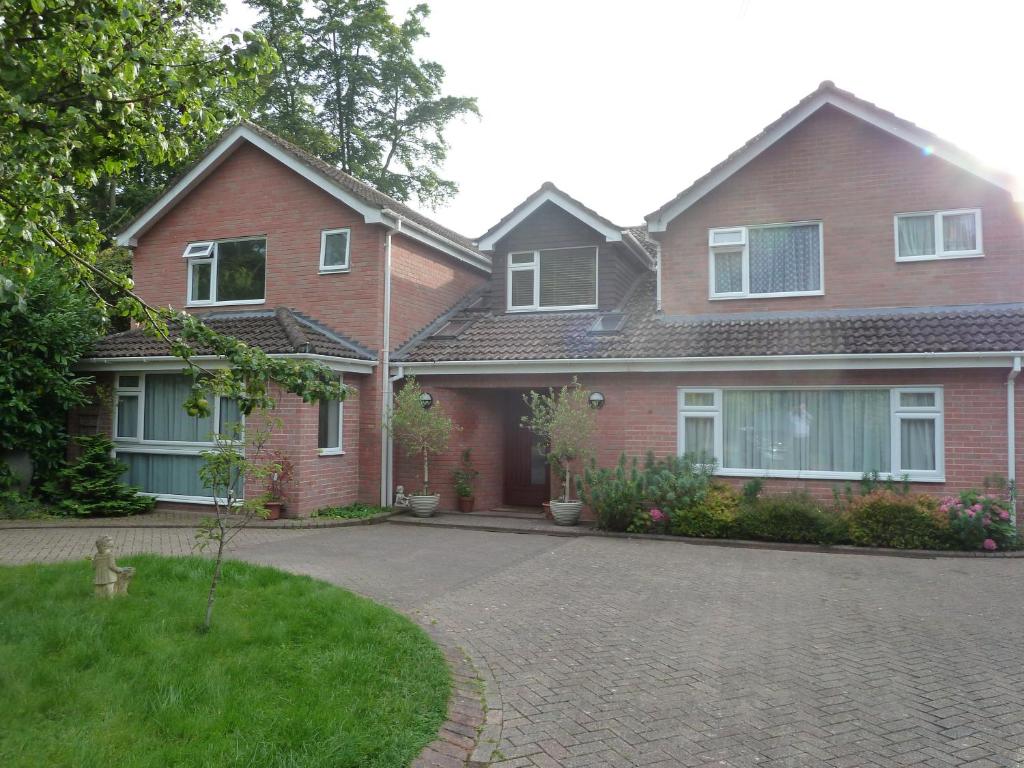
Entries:
[[820, 296], [820, 221], [717, 227], [708, 231], [712, 299]]

